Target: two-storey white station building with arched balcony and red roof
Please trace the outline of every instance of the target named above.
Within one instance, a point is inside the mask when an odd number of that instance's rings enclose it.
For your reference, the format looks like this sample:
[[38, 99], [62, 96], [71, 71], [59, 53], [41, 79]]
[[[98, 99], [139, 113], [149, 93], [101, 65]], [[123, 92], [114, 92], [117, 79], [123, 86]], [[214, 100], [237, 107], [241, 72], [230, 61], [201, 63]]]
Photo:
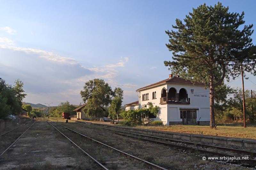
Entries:
[[[205, 90], [204, 83], [173, 77], [142, 87], [139, 100], [126, 104], [126, 111], [130, 109], [148, 108], [148, 103], [159, 106], [157, 116], [143, 118], [143, 122], [160, 120], [164, 125], [173, 124], [210, 124], [210, 94], [209, 86]], [[200, 119], [200, 120], [199, 120]]]

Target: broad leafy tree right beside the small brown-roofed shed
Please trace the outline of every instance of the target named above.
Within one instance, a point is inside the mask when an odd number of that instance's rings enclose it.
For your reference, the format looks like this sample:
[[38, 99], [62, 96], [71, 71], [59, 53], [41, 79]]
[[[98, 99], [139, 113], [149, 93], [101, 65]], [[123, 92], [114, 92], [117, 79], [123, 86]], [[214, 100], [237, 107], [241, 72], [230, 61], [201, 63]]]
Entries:
[[115, 95], [108, 83], [102, 79], [89, 80], [84, 85], [84, 91], [80, 92], [81, 97], [87, 105], [84, 107], [84, 113], [97, 120], [98, 116], [104, 114], [104, 107], [111, 103], [111, 98]]

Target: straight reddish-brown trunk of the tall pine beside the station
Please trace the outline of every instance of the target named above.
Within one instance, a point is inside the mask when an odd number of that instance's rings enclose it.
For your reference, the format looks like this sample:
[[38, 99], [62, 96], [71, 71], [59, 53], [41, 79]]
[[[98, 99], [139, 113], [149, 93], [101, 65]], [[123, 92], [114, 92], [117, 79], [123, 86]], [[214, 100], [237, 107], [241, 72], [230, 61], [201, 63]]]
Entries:
[[214, 115], [213, 72], [210, 71], [210, 128], [213, 129], [214, 125], [215, 125], [215, 115]]

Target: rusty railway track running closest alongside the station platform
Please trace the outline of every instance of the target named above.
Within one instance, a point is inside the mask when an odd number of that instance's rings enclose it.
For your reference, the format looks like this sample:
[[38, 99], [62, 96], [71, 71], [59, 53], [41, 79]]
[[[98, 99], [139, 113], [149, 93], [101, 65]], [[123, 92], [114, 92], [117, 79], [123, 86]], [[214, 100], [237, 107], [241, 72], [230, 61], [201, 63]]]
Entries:
[[[76, 123], [76, 124], [82, 124], [82, 123]], [[87, 125], [87, 124], [82, 124], [82, 125]], [[91, 126], [91, 125], [87, 125], [87, 126]], [[93, 127], [93, 126], [91, 126], [91, 127]], [[153, 136], [135, 134], [135, 133], [125, 132], [125, 131], [118, 131], [118, 130], [102, 128], [102, 127], [97, 127], [97, 128], [119, 132], [119, 133], [116, 133], [118, 135], [122, 135], [122, 136], [126, 136], [126, 137], [132, 137], [132, 138], [136, 138], [136, 139], [144, 140], [144, 141], [148, 141], [148, 142], [163, 144], [163, 145], [167, 145], [167, 146], [171, 146], [171, 147], [177, 147], [177, 148], [184, 149], [184, 150], [187, 150], [187, 151], [191, 150], [193, 152], [201, 152], [201, 153], [206, 153], [206, 154], [211, 154], [211, 155], [219, 155], [219, 156], [223, 156], [223, 157], [234, 157], [235, 160], [242, 160], [244, 158], [242, 156], [230, 155], [230, 154], [226, 154], [226, 153], [223, 153], [223, 152], [213, 152], [213, 151], [205, 150], [203, 148], [210, 148], [210, 149], [215, 149], [215, 150], [218, 150], [218, 151], [223, 151], [224, 150], [224, 151], [233, 152], [233, 153], [243, 153], [243, 154], [246, 154], [246, 155], [251, 156], [251, 157], [256, 156], [256, 152], [244, 151], [244, 150], [239, 150], [239, 149], [232, 149], [232, 148], [226, 148], [226, 147], [220, 147], [220, 146], [212, 146], [212, 145], [206, 145], [206, 144], [196, 144], [196, 143], [192, 143], [192, 142], [185, 142], [185, 141], [174, 140], [174, 139], [153, 137]], [[120, 133], [131, 134], [131, 135], [134, 135], [134, 136], [124, 135], [124, 134], [120, 134]], [[136, 137], [136, 136], [140, 136], [140, 137]], [[154, 138], [154, 139], [157, 139], [158, 141], [147, 139], [147, 138]], [[166, 143], [166, 142], [162, 142], [162, 141], [159, 141], [159, 140], [169, 141], [169, 142], [172, 142], [172, 143], [179, 143], [179, 144]], [[187, 145], [191, 145], [191, 146], [194, 146], [194, 147], [188, 147]], [[251, 164], [251, 166], [249, 166], [249, 167], [254, 167], [256, 165], [256, 159], [244, 159], [242, 161]], [[229, 161], [228, 163], [235, 163], [236, 164], [238, 162], [241, 162], [241, 161], [232, 161], [232, 162]]]

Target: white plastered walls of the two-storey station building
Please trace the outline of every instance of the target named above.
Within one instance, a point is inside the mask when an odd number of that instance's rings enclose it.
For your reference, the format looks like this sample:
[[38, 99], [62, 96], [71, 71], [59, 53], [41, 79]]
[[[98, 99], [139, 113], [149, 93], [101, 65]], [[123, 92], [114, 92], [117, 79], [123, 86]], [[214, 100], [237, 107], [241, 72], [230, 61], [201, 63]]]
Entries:
[[[179, 93], [181, 88], [184, 88], [188, 94], [188, 98], [190, 98], [190, 104], [164, 104], [160, 105], [161, 93], [167, 89], [169, 92], [170, 88], [176, 89], [177, 93]], [[194, 92], [191, 92], [191, 89], [194, 89]], [[209, 87], [205, 90], [204, 86], [199, 85], [186, 85], [186, 84], [174, 84], [174, 83], [166, 83], [163, 85], [157, 85], [155, 87], [150, 87], [145, 90], [139, 91], [139, 103], [140, 108], [142, 108], [143, 104], [147, 104], [148, 102], [152, 102], [153, 106], [161, 107], [158, 116], [155, 120], [166, 121], [166, 124], [169, 125], [169, 122], [182, 122], [180, 119], [180, 108], [196, 108], [196, 117], [197, 121], [201, 117], [200, 121], [210, 121], [210, 94]], [[156, 99], [153, 98], [153, 92], [156, 92]], [[142, 94], [149, 94], [148, 100], [142, 101]], [[126, 107], [127, 108], [127, 107]]]

